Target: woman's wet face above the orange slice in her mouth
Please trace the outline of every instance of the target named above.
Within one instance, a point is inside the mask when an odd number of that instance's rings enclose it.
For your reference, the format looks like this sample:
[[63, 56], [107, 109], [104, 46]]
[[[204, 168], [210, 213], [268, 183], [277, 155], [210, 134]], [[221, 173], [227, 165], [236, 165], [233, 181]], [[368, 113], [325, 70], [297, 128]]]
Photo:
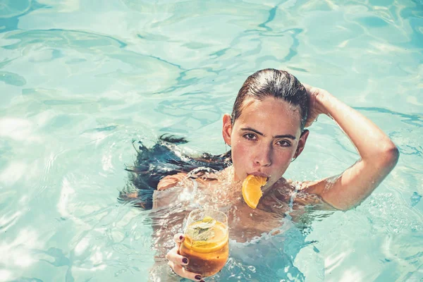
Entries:
[[252, 174], [268, 178], [264, 189], [276, 183], [307, 140], [308, 131], [301, 135], [300, 118], [298, 106], [274, 97], [246, 99], [233, 125], [229, 115], [223, 117], [223, 138], [231, 145], [235, 180]]

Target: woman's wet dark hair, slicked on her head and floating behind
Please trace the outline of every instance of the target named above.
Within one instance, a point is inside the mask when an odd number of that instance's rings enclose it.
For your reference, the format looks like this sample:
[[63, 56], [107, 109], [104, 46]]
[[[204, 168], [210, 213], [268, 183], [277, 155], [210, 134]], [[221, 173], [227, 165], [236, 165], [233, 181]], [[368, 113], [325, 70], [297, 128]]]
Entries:
[[[245, 80], [233, 105], [232, 123], [235, 123], [242, 114], [246, 99], [261, 101], [266, 97], [283, 99], [293, 106], [299, 106], [300, 127], [301, 130], [304, 129], [309, 102], [305, 87], [290, 73], [272, 68], [257, 71]], [[179, 172], [188, 173], [201, 167], [221, 171], [231, 165], [231, 151], [221, 155], [204, 153], [198, 157], [192, 157], [178, 150], [177, 146], [186, 142], [188, 141], [185, 138], [173, 135], [161, 135], [158, 142], [151, 148], [145, 147], [142, 142], [134, 142], [138, 153], [137, 159], [133, 166], [125, 168], [129, 172], [129, 181], [120, 192], [118, 199], [132, 202], [142, 209], [152, 209], [153, 192], [164, 176]]]

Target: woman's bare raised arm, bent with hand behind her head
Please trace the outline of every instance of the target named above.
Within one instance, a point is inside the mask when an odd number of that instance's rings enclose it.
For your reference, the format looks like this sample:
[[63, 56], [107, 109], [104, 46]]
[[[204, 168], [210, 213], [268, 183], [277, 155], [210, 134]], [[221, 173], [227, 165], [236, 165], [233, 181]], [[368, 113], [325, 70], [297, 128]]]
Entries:
[[348, 135], [361, 157], [341, 176], [309, 183], [305, 189], [336, 209], [351, 209], [366, 199], [396, 166], [398, 149], [380, 128], [358, 111], [326, 90], [305, 87], [310, 97], [307, 125], [319, 114], [330, 116]]

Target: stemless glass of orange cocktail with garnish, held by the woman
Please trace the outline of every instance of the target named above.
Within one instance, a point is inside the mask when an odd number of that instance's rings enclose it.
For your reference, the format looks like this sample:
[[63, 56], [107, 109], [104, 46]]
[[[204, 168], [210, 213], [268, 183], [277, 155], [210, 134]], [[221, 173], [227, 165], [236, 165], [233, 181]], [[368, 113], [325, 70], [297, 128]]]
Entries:
[[179, 250], [190, 260], [185, 266], [188, 271], [207, 277], [225, 266], [229, 255], [227, 222], [226, 215], [216, 210], [191, 212]]

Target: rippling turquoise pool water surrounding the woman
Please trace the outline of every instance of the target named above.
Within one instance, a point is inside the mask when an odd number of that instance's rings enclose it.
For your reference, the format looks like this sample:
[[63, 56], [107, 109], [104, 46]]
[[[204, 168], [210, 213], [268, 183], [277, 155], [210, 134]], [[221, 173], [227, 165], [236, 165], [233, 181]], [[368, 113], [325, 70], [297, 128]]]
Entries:
[[[0, 0], [0, 48], [0, 281], [147, 281], [149, 216], [116, 200], [132, 140], [224, 152], [221, 117], [260, 68], [355, 107], [400, 161], [357, 209], [234, 244], [210, 280], [422, 281], [421, 0]], [[357, 159], [329, 118], [310, 130], [288, 178]]]

